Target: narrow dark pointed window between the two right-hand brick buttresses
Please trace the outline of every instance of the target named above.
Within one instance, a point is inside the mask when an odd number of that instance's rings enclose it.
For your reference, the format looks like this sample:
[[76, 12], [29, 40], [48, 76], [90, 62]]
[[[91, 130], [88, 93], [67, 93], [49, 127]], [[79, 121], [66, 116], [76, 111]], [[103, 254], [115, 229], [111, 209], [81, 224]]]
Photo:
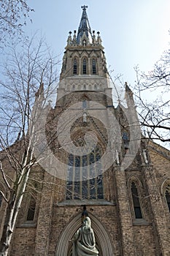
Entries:
[[134, 204], [135, 218], [142, 219], [142, 211], [141, 211], [141, 206], [140, 206], [138, 190], [137, 190], [136, 184], [134, 182], [132, 182], [132, 184], [131, 184], [131, 195], [132, 195], [132, 200], [133, 200], [133, 204]]

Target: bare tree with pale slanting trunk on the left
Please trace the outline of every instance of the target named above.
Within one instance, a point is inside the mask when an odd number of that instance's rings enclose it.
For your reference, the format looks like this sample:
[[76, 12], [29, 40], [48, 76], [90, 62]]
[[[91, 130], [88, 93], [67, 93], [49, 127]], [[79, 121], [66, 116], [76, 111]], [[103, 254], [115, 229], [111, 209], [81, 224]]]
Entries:
[[36, 141], [37, 105], [46, 108], [53, 84], [58, 80], [57, 67], [58, 61], [50, 54], [45, 40], [41, 39], [36, 46], [35, 38], [23, 48], [11, 48], [4, 65], [4, 79], [0, 81], [0, 174], [4, 190], [0, 189], [0, 193], [7, 207], [0, 255], [8, 254], [30, 170], [36, 161], [32, 147]]

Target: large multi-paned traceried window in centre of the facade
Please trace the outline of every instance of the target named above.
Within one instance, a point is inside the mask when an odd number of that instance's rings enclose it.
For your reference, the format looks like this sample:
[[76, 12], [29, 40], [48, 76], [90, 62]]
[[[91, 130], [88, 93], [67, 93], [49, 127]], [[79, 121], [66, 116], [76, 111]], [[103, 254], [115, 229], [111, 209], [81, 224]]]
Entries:
[[103, 199], [103, 177], [101, 170], [101, 148], [96, 146], [88, 155], [69, 154], [66, 200]]

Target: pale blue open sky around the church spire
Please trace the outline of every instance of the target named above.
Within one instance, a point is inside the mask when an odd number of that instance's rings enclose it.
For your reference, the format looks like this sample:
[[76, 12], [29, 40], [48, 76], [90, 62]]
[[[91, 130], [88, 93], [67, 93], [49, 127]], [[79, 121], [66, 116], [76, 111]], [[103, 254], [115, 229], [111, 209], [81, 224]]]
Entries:
[[35, 12], [26, 31], [45, 35], [47, 43], [62, 59], [69, 31], [78, 29], [82, 5], [88, 5], [92, 30], [101, 32], [112, 75], [123, 74], [123, 81], [134, 84], [134, 66], [152, 69], [163, 50], [169, 47], [169, 0], [74, 0], [28, 1]]

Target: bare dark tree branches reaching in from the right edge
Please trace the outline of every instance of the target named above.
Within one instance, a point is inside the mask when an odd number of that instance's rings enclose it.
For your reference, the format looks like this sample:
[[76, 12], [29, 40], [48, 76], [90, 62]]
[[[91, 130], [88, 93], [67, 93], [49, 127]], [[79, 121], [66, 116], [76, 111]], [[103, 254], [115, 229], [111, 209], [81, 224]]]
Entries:
[[[135, 101], [145, 135], [170, 142], [170, 50], [148, 74], [136, 67]], [[147, 134], [146, 134], [147, 133]]]

